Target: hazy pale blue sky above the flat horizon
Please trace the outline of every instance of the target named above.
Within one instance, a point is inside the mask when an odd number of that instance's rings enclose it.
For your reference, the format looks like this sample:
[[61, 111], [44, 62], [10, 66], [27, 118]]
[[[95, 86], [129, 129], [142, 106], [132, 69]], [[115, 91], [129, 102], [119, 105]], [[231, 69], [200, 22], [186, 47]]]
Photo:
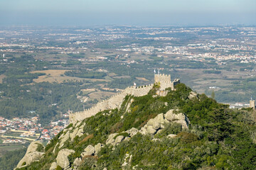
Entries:
[[256, 25], [256, 0], [0, 0], [0, 25]]

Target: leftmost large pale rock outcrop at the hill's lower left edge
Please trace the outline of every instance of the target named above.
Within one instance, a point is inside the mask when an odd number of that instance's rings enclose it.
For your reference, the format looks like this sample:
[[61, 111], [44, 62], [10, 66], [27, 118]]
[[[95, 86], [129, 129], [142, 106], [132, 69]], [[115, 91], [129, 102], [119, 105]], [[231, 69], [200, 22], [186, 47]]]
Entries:
[[28, 146], [26, 154], [21, 159], [21, 161], [18, 162], [17, 168], [28, 166], [32, 162], [36, 162], [39, 159], [41, 159], [41, 157], [43, 157], [44, 152], [38, 152], [37, 151], [38, 147], [43, 147], [43, 144], [39, 141], [31, 142], [31, 144]]

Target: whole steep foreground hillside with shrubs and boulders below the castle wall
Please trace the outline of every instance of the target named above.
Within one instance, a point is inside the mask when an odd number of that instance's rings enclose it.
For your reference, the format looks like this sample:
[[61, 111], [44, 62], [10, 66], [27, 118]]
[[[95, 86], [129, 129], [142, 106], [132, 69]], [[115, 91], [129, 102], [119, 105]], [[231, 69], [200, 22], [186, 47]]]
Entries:
[[158, 89], [70, 124], [21, 169], [256, 169], [254, 111], [184, 84], [166, 96]]

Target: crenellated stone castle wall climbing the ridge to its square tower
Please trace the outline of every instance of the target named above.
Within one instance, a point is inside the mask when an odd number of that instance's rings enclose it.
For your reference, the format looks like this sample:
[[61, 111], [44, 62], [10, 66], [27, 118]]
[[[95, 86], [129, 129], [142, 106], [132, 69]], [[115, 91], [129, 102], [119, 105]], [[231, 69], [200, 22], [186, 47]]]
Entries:
[[[180, 83], [179, 79], [174, 79], [171, 81], [171, 75], [166, 74], [155, 74], [154, 83], [160, 84], [159, 94], [167, 93], [166, 88], [171, 88], [174, 90], [174, 86]], [[125, 96], [144, 96], [149, 93], [153, 88], [154, 84], [149, 84], [145, 86], [129, 86], [124, 91], [115, 94], [114, 96], [107, 98], [106, 100], [100, 101], [92, 108], [86, 109], [85, 111], [78, 111], [75, 113], [70, 113], [69, 120], [70, 123], [76, 123], [77, 121], [82, 121], [85, 118], [89, 118], [92, 115], [96, 115], [100, 111], [105, 111], [108, 109], [119, 108], [124, 101]]]

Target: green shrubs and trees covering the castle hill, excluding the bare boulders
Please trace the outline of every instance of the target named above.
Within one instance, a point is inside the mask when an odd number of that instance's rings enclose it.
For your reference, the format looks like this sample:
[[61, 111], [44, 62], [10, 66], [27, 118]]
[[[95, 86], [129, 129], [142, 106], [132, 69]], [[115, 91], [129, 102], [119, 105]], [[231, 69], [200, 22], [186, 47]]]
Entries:
[[[85, 158], [80, 169], [122, 169], [127, 154], [132, 155], [131, 166], [141, 169], [256, 169], [253, 111], [230, 110], [205, 94], [189, 100], [191, 89], [184, 84], [176, 85], [176, 91], [169, 91], [165, 97], [153, 98], [156, 89], [142, 97], [127, 96], [119, 110], [103, 111], [85, 119], [80, 125], [85, 123], [84, 130], [90, 135], [75, 137], [73, 142], [67, 141], [64, 145], [75, 150], [69, 157], [71, 164], [87, 145], [105, 143], [114, 132], [127, 136], [125, 130], [142, 128], [159, 113], [179, 108], [191, 122], [189, 129], [182, 130], [181, 125], [172, 123], [154, 136], [158, 141], [138, 133], [131, 140], [119, 143], [114, 150], [111, 145], [105, 145], [97, 158]], [[131, 99], [130, 113], [125, 112]], [[176, 137], [167, 137], [169, 134], [176, 134]], [[58, 136], [46, 146], [46, 156], [26, 169], [49, 168], [57, 156], [52, 151]], [[92, 168], [93, 164], [97, 166]]]

